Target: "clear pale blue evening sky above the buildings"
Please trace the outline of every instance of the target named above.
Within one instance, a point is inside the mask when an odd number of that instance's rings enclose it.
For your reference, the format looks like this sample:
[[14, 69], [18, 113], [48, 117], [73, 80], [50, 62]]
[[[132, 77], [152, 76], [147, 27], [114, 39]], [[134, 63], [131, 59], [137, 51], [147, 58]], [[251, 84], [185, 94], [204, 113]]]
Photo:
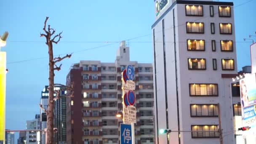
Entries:
[[[234, 3], [237, 68], [250, 65], [251, 40], [256, 32], [256, 0]], [[40, 113], [41, 91], [48, 85], [48, 47], [43, 23], [63, 31], [53, 53], [73, 53], [61, 61], [55, 83], [65, 84], [72, 64], [80, 60], [114, 62], [119, 42], [128, 40], [131, 61], [152, 63], [154, 0], [0, 0], [0, 35], [8, 31], [6, 80], [6, 129], [25, 129], [26, 120]], [[256, 41], [256, 37], [252, 37]], [[143, 53], [143, 54], [141, 54]], [[63, 56], [63, 55], [61, 55]], [[16, 138], [17, 139], [17, 135]]]

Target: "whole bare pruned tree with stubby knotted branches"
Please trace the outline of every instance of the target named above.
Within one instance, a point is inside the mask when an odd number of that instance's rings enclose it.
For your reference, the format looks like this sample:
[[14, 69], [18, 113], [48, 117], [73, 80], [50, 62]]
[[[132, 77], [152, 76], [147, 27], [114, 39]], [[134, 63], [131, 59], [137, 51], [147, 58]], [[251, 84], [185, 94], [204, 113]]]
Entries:
[[[53, 100], [53, 94], [54, 94], [54, 70], [60, 70], [61, 65], [59, 67], [56, 65], [57, 62], [62, 61], [65, 58], [70, 58], [71, 54], [67, 54], [64, 57], [56, 57], [53, 58], [53, 43], [58, 44], [61, 37], [62, 32], [60, 32], [58, 35], [54, 35], [55, 29], [52, 29], [50, 25], [48, 25], [48, 30], [46, 30], [46, 22], [49, 19], [49, 17], [46, 17], [43, 30], [45, 34], [40, 33], [40, 37], [46, 38], [46, 45], [48, 46], [48, 54], [49, 54], [49, 97], [48, 97], [48, 107], [46, 111], [47, 115], [47, 140], [46, 144], [53, 144], [53, 108], [54, 108], [54, 100]], [[51, 39], [51, 36], [53, 38]], [[56, 39], [56, 40], [55, 40]], [[68, 89], [68, 88], [67, 88]], [[57, 92], [57, 96], [59, 96]], [[72, 94], [73, 96], [73, 94]]]

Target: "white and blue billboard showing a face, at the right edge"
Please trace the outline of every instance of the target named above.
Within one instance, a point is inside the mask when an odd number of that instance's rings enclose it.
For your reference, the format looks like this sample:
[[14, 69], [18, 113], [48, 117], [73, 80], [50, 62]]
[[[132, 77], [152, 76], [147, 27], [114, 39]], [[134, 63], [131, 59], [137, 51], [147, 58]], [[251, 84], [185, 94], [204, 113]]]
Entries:
[[240, 80], [241, 111], [244, 126], [256, 124], [256, 74]]

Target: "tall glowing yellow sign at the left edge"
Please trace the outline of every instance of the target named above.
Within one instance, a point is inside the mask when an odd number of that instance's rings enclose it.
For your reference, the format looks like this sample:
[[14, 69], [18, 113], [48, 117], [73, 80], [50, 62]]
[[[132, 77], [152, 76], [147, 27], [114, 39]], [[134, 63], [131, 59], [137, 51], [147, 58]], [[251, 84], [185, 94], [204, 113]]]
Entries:
[[6, 52], [0, 52], [0, 141], [5, 141]]

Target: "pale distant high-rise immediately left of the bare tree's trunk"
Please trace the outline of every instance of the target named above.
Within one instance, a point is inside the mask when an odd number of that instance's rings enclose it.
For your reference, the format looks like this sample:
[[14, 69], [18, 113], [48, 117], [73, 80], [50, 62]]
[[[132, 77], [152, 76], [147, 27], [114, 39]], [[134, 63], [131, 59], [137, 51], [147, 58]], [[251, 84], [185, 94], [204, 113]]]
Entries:
[[[39, 114], [35, 115], [35, 120], [27, 120], [26, 129], [27, 130], [40, 130], [41, 129], [41, 122], [40, 122]], [[26, 132], [26, 144], [37, 144], [37, 132], [36, 131]]]

